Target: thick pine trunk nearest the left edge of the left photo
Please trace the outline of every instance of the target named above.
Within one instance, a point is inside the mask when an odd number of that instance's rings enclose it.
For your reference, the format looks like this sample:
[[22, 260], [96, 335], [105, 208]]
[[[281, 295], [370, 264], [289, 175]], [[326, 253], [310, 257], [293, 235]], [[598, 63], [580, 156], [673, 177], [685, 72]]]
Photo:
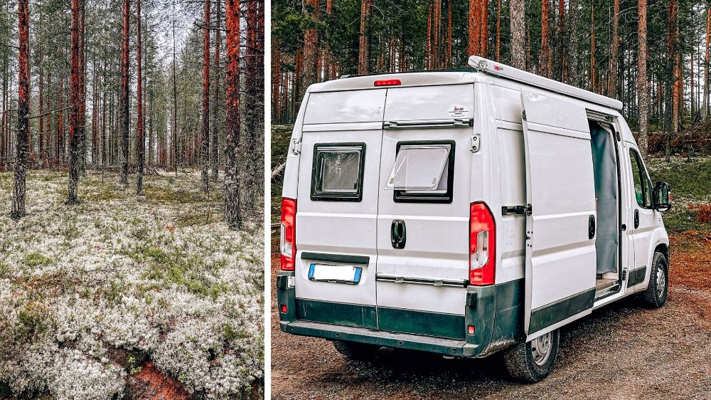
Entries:
[[29, 64], [29, 5], [28, 0], [18, 0], [18, 96], [15, 184], [10, 215], [14, 219], [25, 216], [27, 137], [30, 132], [30, 64]]

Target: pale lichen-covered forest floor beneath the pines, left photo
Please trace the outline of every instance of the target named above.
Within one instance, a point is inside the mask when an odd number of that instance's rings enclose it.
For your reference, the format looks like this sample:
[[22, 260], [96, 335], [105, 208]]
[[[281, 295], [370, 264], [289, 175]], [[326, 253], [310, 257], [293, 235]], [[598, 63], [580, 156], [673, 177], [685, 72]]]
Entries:
[[[222, 184], [31, 171], [9, 218], [0, 174], [0, 399], [236, 399], [264, 371], [261, 213], [223, 220]], [[257, 388], [257, 390], [255, 390]], [[149, 392], [153, 392], [150, 394]]]

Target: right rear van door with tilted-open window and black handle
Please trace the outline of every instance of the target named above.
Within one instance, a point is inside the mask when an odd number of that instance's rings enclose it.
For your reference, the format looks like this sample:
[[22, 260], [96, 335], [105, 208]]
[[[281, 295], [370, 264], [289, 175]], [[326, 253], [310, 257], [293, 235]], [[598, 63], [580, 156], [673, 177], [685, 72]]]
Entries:
[[389, 88], [378, 190], [378, 329], [464, 339], [474, 85]]

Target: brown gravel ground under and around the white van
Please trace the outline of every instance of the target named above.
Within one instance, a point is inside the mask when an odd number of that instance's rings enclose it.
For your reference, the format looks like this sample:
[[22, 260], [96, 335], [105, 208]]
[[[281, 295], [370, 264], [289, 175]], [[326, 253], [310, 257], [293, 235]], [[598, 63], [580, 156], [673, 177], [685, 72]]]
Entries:
[[[281, 332], [272, 300], [272, 398], [711, 399], [711, 238], [683, 234], [672, 250], [665, 307], [627, 298], [564, 327], [554, 371], [533, 385], [508, 380], [496, 356], [383, 349], [350, 361], [326, 340]], [[278, 270], [277, 258], [272, 282]]]

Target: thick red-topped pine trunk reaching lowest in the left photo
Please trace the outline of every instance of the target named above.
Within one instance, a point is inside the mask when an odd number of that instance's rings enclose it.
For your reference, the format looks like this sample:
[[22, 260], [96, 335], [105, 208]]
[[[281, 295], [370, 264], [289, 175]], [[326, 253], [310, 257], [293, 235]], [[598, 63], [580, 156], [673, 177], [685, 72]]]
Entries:
[[225, 28], [225, 221], [242, 227], [237, 146], [240, 142], [240, 0], [226, 0]]

